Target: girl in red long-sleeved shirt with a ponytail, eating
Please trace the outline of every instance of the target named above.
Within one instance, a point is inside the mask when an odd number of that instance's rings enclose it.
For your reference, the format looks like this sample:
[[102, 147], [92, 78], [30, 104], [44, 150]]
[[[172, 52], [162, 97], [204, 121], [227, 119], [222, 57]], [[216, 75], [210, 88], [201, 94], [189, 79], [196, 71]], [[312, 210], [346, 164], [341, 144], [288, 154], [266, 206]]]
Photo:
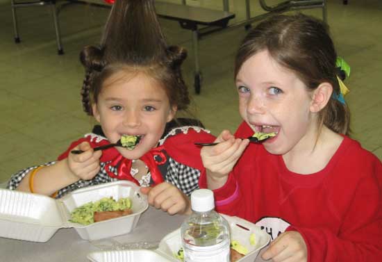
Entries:
[[[201, 186], [217, 211], [258, 224], [275, 262], [381, 261], [382, 164], [349, 138], [326, 24], [276, 15], [244, 38], [235, 64], [235, 135], [204, 147]], [[254, 133], [274, 133], [262, 144]]]

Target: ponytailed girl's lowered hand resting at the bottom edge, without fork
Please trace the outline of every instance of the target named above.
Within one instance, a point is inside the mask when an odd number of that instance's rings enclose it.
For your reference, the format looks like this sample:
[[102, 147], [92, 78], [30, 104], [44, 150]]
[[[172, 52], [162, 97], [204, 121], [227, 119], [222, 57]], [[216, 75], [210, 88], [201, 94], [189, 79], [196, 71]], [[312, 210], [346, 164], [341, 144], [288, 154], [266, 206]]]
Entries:
[[307, 249], [304, 238], [297, 231], [286, 231], [278, 236], [261, 256], [274, 262], [306, 262]]

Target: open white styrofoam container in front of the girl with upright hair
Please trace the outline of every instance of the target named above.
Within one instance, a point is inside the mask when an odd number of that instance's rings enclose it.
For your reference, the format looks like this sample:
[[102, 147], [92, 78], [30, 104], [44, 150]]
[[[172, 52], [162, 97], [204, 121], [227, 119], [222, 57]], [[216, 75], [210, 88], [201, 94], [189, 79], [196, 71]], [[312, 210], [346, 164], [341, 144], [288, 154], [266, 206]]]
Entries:
[[[102, 197], [116, 200], [130, 197], [133, 213], [87, 226], [69, 222], [74, 208]], [[47, 242], [58, 229], [74, 227], [85, 240], [109, 238], [132, 231], [148, 206], [147, 197], [140, 194], [139, 187], [130, 181], [81, 188], [61, 199], [0, 189], [0, 237]]]

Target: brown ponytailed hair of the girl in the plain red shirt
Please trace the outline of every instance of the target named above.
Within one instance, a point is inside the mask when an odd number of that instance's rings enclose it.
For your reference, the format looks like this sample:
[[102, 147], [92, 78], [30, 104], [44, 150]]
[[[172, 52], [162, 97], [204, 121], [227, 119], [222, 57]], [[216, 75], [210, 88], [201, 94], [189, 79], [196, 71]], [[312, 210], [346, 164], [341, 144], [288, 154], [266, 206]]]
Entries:
[[[309, 90], [331, 83], [340, 94], [333, 41], [329, 26], [308, 15], [275, 15], [258, 24], [242, 41], [235, 59], [235, 78], [242, 64], [259, 51], [267, 50], [279, 65], [292, 70]], [[346, 104], [329, 99], [319, 112], [324, 124], [335, 133], [349, 133], [350, 113]]]

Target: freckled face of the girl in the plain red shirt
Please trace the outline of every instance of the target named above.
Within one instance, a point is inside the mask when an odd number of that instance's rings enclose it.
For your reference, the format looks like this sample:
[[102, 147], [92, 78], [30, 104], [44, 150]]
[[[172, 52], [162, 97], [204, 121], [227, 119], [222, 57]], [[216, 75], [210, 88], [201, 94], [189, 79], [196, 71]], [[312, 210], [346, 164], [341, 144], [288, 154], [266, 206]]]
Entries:
[[311, 94], [296, 74], [260, 51], [245, 61], [236, 77], [240, 115], [254, 131], [278, 132], [263, 143], [271, 154], [311, 149], [317, 116], [310, 112]]

